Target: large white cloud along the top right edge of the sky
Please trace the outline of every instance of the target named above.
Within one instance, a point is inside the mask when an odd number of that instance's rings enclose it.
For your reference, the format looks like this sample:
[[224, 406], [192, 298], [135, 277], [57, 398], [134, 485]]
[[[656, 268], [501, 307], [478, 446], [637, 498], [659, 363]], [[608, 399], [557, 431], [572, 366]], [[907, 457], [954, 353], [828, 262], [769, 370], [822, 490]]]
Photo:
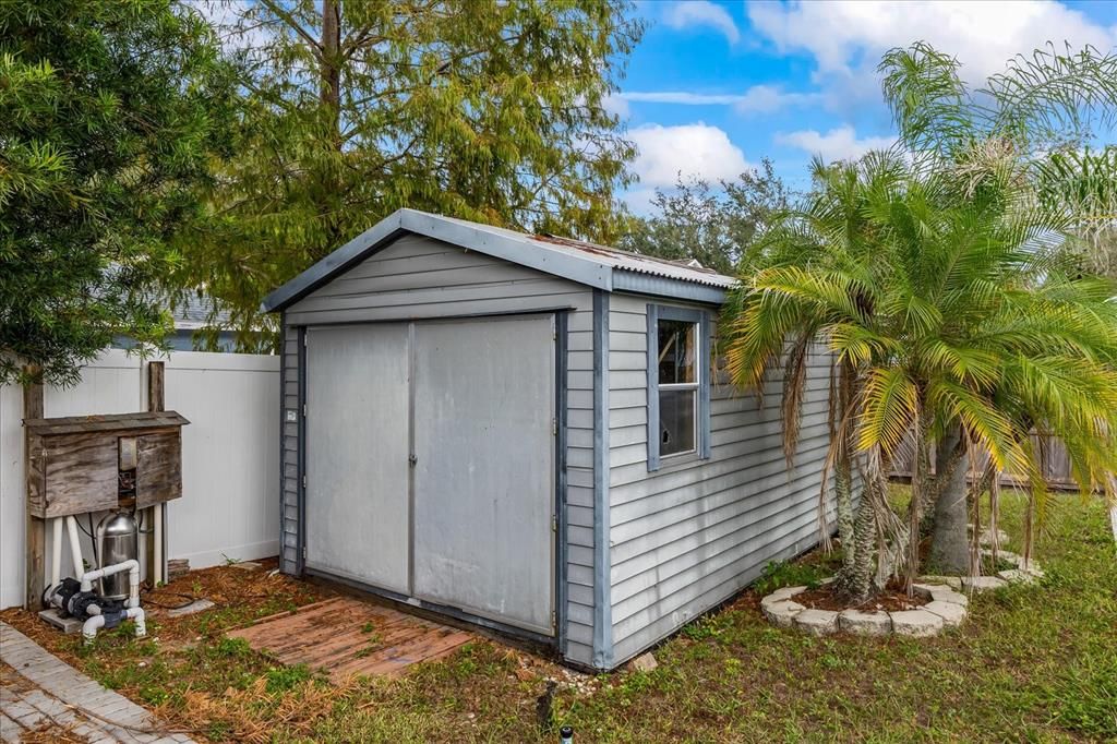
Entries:
[[1104, 28], [1083, 13], [1053, 0], [1012, 2], [831, 2], [747, 6], [753, 28], [783, 51], [814, 56], [822, 75], [848, 76], [876, 67], [880, 55], [924, 40], [956, 56], [963, 76], [982, 83], [1004, 69], [1018, 54], [1029, 54], [1049, 40], [1062, 48], [1117, 46], [1117, 27]]

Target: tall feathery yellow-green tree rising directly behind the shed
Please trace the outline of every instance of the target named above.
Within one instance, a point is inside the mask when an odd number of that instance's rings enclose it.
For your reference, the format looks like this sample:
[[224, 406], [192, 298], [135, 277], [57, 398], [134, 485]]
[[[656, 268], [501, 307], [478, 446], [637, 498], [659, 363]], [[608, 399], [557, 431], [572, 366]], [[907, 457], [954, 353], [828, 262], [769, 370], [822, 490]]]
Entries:
[[268, 292], [402, 207], [610, 240], [634, 155], [603, 107], [642, 32], [628, 8], [233, 3], [242, 126], [179, 286], [204, 286], [251, 345]]

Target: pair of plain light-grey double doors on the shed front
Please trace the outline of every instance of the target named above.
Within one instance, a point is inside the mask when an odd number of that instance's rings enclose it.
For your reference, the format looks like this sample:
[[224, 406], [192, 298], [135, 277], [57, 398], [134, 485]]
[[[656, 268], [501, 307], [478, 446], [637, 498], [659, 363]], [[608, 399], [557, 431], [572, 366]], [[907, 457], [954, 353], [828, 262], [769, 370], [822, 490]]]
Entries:
[[553, 316], [307, 332], [305, 563], [554, 633]]

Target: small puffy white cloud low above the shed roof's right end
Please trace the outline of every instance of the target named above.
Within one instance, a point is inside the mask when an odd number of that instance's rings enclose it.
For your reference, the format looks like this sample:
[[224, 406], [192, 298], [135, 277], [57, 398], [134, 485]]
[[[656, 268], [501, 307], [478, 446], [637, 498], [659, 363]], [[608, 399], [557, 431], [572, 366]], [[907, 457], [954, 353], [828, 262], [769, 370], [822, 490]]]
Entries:
[[735, 179], [748, 169], [745, 153], [723, 130], [703, 122], [662, 126], [645, 124], [628, 136], [639, 154], [632, 170], [645, 188], [675, 185], [684, 178]]

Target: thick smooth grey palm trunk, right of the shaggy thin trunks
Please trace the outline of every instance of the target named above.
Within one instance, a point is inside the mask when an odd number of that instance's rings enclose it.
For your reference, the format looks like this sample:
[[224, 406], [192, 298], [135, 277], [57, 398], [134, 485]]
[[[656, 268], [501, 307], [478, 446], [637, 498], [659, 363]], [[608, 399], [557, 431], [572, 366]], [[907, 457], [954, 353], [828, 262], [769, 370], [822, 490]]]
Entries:
[[[936, 447], [935, 526], [930, 542], [930, 563], [935, 571], [965, 574], [970, 571], [970, 546], [966, 540], [966, 474], [970, 470], [965, 448], [960, 447], [962, 428], [951, 427]], [[961, 459], [958, 459], [961, 458]]]

